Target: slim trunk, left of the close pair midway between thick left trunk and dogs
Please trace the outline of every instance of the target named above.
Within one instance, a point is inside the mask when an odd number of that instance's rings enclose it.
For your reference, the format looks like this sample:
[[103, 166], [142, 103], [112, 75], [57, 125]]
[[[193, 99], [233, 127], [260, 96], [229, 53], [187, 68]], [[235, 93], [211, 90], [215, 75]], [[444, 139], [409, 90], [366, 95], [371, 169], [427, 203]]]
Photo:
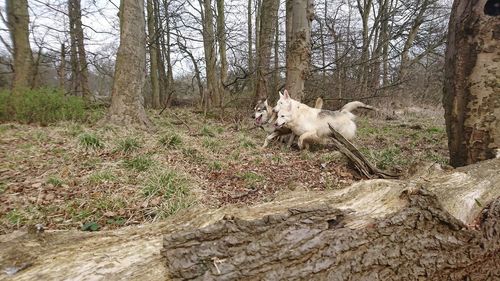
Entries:
[[202, 23], [203, 23], [203, 47], [205, 51], [205, 63], [207, 74], [207, 95], [205, 95], [205, 112], [210, 109], [210, 102], [218, 104], [217, 99], [217, 72], [216, 72], [216, 53], [215, 53], [215, 36], [213, 28], [213, 13], [212, 0], [199, 0], [203, 7]]

